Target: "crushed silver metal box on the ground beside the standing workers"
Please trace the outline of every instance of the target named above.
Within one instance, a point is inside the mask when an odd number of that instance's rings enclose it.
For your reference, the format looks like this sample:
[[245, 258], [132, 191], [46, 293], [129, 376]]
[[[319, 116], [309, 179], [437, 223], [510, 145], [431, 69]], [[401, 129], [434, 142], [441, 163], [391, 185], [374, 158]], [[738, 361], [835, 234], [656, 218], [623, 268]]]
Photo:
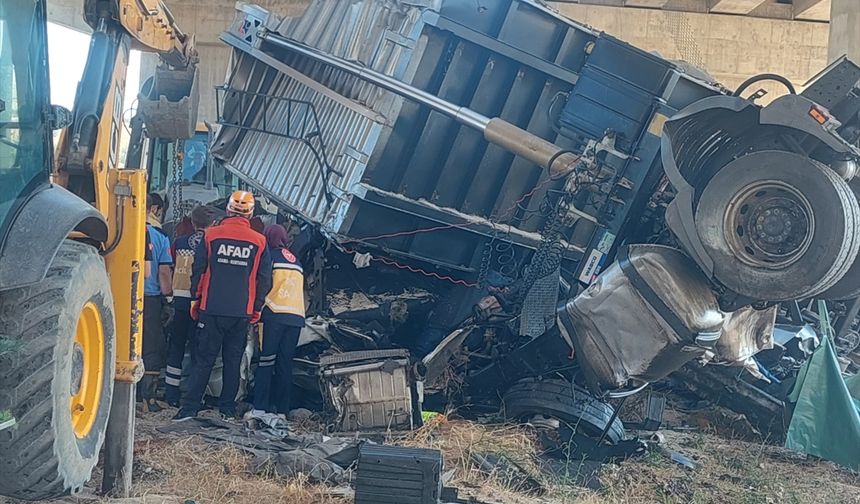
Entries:
[[345, 352], [320, 359], [320, 379], [342, 431], [413, 428], [407, 350]]

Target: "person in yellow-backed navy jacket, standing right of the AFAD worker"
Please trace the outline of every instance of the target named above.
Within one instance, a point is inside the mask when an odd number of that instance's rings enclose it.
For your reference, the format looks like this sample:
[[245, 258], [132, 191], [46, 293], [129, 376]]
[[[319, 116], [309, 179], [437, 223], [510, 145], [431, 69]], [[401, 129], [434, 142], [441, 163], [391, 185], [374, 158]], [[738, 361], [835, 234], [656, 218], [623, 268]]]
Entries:
[[272, 256], [272, 289], [266, 296], [261, 319], [263, 342], [254, 374], [254, 409], [246, 418], [266, 413], [286, 418], [290, 412], [293, 355], [305, 326], [304, 274], [298, 258], [288, 248], [286, 228], [272, 224], [266, 226], [264, 234]]

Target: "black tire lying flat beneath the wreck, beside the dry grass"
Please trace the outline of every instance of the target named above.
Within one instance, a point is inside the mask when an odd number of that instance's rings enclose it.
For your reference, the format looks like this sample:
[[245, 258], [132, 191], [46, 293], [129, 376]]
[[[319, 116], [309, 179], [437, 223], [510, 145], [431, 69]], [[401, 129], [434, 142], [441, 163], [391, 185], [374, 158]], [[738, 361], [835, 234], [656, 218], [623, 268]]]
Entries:
[[[613, 412], [609, 404], [563, 380], [522, 380], [512, 385], [503, 397], [506, 418], [523, 420], [545, 415], [568, 423], [574, 430], [595, 439], [603, 434]], [[623, 439], [624, 424], [616, 417], [605, 441], [614, 445]]]

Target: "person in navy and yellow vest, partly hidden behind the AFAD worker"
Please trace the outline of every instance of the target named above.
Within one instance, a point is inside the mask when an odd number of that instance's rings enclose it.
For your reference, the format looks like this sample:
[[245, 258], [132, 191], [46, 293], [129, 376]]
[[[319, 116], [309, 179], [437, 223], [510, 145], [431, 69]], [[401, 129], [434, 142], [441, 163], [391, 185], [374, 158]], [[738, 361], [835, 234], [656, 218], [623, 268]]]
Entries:
[[[167, 370], [165, 373], [165, 400], [167, 404], [179, 406], [179, 384], [182, 379], [182, 360], [189, 348], [194, 358], [194, 326], [191, 319], [191, 269], [194, 253], [203, 241], [203, 232], [212, 225], [215, 209], [210, 206], [197, 206], [191, 211], [189, 234], [179, 236], [173, 242], [173, 330], [167, 344]], [[177, 227], [177, 229], [179, 229]]]

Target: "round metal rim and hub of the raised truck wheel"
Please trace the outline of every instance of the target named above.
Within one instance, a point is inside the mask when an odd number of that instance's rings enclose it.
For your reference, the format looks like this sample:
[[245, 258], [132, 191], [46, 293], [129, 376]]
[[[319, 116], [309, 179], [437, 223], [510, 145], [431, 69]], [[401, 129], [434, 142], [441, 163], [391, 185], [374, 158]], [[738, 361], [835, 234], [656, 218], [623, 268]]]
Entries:
[[732, 253], [757, 268], [784, 268], [809, 248], [815, 219], [797, 189], [765, 181], [739, 191], [726, 208], [727, 242]]

